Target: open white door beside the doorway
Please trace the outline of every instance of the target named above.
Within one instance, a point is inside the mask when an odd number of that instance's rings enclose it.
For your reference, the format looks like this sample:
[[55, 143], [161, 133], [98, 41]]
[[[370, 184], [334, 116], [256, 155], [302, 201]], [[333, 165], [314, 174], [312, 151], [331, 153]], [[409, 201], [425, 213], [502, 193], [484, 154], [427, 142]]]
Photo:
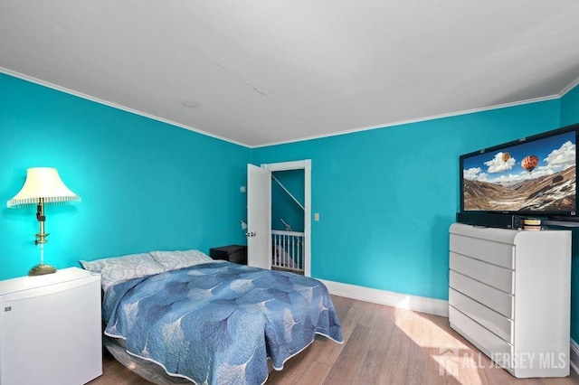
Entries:
[[247, 264], [271, 268], [271, 172], [247, 164]]

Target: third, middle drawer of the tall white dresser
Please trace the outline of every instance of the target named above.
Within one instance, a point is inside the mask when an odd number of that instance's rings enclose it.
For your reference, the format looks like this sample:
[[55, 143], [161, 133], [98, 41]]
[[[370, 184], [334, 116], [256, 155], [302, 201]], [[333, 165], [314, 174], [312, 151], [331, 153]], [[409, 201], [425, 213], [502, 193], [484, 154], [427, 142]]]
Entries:
[[501, 315], [514, 319], [514, 296], [452, 270], [450, 281], [451, 288], [465, 296], [470, 296], [470, 298], [483, 305], [487, 305]]

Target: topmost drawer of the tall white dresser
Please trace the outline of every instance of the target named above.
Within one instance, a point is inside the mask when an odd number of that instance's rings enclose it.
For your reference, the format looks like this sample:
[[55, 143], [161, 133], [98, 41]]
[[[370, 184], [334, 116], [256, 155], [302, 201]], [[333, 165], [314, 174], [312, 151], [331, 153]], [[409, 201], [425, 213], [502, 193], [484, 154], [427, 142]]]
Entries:
[[451, 234], [451, 251], [503, 268], [515, 268], [515, 246], [508, 243]]

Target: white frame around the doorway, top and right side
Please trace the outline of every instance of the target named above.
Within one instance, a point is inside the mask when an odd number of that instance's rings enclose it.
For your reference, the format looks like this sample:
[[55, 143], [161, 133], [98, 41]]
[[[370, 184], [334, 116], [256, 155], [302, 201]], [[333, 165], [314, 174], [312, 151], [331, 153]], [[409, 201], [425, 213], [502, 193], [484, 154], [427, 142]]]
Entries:
[[275, 171], [304, 170], [304, 276], [311, 277], [311, 159], [261, 164]]

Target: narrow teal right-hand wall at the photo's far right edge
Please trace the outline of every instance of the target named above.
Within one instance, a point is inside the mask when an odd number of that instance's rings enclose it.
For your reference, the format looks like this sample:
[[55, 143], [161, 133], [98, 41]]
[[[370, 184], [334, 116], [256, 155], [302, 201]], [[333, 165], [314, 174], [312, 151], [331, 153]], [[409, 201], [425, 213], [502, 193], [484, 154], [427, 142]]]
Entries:
[[[575, 123], [579, 123], [579, 86], [561, 99], [561, 126]], [[571, 338], [579, 341], [579, 230], [573, 231], [571, 303]]]

